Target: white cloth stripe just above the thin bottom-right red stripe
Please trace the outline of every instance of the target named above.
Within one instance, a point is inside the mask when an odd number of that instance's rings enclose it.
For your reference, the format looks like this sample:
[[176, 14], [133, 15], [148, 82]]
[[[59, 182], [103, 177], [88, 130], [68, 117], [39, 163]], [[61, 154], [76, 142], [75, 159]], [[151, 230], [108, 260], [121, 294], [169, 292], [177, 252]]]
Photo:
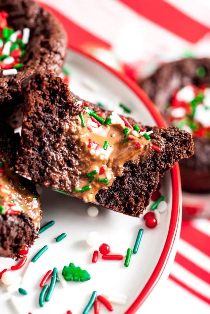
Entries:
[[181, 282], [210, 299], [210, 285], [174, 262], [171, 274]]

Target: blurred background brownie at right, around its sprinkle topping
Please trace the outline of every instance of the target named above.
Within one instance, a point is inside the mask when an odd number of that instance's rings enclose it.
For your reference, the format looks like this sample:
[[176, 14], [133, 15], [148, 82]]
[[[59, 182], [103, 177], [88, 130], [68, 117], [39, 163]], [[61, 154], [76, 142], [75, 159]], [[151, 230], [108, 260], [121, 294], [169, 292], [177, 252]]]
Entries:
[[[205, 70], [204, 76], [197, 69]], [[162, 65], [153, 75], [139, 83], [164, 117], [165, 108], [175, 89], [185, 84], [200, 86], [210, 84], [210, 59], [186, 58]], [[210, 192], [210, 140], [193, 136], [194, 154], [180, 161], [182, 189], [187, 192]]]

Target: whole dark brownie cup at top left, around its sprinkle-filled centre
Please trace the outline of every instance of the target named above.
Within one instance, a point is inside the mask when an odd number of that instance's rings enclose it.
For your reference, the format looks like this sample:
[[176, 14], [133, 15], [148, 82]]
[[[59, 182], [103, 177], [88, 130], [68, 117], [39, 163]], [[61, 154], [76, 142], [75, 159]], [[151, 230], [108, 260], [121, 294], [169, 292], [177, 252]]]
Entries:
[[8, 13], [8, 26], [14, 30], [30, 29], [29, 43], [16, 75], [0, 71], [0, 116], [13, 127], [22, 123], [24, 97], [21, 82], [39, 69], [60, 73], [66, 55], [66, 34], [61, 24], [33, 0], [1, 0], [0, 11]]

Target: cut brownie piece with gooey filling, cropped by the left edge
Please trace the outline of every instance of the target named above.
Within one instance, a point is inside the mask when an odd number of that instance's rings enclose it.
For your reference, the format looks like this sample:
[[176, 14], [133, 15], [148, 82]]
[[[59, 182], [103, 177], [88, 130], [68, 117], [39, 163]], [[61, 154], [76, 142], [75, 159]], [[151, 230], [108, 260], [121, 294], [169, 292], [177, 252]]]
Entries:
[[19, 257], [18, 249], [38, 238], [41, 209], [34, 184], [15, 174], [19, 134], [0, 123], [0, 257]]

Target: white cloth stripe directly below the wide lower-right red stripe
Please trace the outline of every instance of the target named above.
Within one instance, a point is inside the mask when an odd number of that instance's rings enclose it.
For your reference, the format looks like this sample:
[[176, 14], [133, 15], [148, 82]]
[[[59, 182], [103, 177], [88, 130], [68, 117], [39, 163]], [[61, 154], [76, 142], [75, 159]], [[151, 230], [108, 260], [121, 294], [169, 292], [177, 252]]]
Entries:
[[210, 257], [198, 250], [196, 247], [182, 239], [179, 239], [178, 252], [197, 266], [210, 273]]

